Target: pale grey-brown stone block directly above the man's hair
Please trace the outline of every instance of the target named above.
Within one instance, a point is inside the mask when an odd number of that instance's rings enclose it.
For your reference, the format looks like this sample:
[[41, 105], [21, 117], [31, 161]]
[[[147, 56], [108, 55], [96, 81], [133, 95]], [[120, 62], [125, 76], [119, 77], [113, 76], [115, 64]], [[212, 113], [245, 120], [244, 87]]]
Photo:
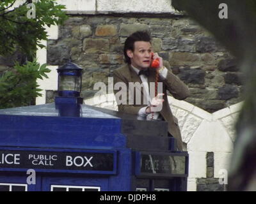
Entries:
[[147, 24], [121, 24], [120, 36], [129, 36], [136, 31], [149, 31]]

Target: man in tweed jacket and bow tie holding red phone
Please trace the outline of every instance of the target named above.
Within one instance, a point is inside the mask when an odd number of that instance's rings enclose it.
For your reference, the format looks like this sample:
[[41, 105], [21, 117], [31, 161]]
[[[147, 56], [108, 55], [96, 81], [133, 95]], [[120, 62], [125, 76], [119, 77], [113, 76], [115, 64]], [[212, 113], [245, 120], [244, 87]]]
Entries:
[[[122, 82], [127, 88], [124, 90], [129, 90], [129, 92], [125, 93], [127, 98], [121, 99], [121, 103], [118, 103], [118, 111], [137, 114], [140, 117], [149, 119], [165, 120], [168, 122], [169, 135], [177, 139], [177, 149], [182, 150], [182, 138], [178, 121], [173, 117], [168, 105], [166, 91], [168, 90], [174, 98], [182, 100], [189, 96], [189, 90], [178, 77], [173, 75], [169, 64], [163, 62], [159, 55], [154, 54], [153, 56], [153, 59], [159, 60], [159, 66], [150, 68], [152, 62], [152, 45], [150, 41], [151, 38], [147, 31], [137, 31], [125, 40], [124, 55], [126, 64], [113, 71], [113, 75], [114, 84]], [[152, 90], [149, 90], [148, 83], [155, 82], [156, 70], [159, 71], [158, 82], [162, 82], [163, 86], [161, 88], [163, 92], [158, 93], [156, 97], [150, 97]], [[143, 91], [140, 92], [141, 99], [137, 100], [140, 97], [138, 92], [131, 94], [132, 91], [129, 89], [131, 82], [143, 84]], [[115, 90], [116, 101], [120, 101], [119, 95], [117, 96], [116, 94], [119, 91], [122, 91], [122, 88]], [[148, 102], [146, 104], [143, 103], [145, 98], [146, 102]], [[138, 101], [140, 103], [136, 103]]]

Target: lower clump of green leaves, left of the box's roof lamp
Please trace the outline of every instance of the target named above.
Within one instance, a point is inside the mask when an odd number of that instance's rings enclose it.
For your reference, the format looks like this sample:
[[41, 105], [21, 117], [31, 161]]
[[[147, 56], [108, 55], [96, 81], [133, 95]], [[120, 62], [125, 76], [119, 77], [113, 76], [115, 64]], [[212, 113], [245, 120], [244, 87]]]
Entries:
[[36, 79], [48, 78], [45, 73], [50, 71], [46, 64], [40, 66], [36, 61], [23, 66], [16, 63], [13, 71], [6, 72], [0, 78], [0, 108], [30, 105], [36, 96], [42, 96]]

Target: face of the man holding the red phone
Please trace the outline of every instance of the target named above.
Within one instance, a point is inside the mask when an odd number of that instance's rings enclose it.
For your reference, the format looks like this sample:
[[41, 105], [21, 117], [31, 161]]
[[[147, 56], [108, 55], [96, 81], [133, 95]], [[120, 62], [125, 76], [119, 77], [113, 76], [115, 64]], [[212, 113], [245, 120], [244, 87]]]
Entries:
[[150, 42], [136, 41], [134, 51], [127, 50], [127, 55], [131, 59], [131, 64], [135, 68], [145, 69], [150, 66], [152, 47]]

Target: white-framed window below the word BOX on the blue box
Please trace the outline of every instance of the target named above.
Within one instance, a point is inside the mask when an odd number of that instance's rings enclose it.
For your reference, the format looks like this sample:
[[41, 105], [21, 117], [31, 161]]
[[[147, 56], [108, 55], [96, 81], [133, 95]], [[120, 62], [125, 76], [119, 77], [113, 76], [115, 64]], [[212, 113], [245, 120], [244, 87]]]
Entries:
[[100, 187], [51, 185], [51, 191], [100, 191]]

